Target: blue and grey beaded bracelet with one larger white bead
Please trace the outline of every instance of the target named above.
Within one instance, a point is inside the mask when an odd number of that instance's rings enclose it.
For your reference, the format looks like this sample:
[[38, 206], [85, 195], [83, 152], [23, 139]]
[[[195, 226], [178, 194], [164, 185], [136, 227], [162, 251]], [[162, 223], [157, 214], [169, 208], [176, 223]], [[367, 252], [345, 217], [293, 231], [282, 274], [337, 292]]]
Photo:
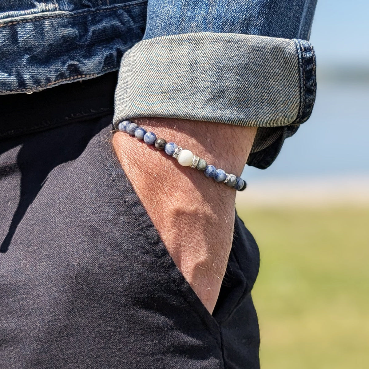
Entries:
[[130, 120], [118, 123], [118, 130], [127, 132], [139, 140], [144, 140], [148, 145], [155, 145], [158, 150], [164, 150], [167, 155], [177, 159], [180, 165], [202, 170], [206, 177], [213, 178], [216, 182], [223, 182], [238, 191], [243, 191], [246, 188], [246, 182], [242, 178], [228, 174], [223, 169], [217, 169], [214, 165], [207, 165], [204, 159], [192, 154], [190, 150], [183, 149], [174, 142], [166, 142], [164, 138], [156, 138], [154, 132], [146, 132], [144, 128]]

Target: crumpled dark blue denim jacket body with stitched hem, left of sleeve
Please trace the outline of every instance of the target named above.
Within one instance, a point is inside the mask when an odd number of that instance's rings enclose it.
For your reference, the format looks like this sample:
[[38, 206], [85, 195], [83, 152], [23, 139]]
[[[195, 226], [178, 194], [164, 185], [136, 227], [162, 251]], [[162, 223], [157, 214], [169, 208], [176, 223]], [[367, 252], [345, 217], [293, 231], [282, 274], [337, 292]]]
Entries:
[[146, 0], [0, 1], [0, 94], [117, 70], [142, 39]]

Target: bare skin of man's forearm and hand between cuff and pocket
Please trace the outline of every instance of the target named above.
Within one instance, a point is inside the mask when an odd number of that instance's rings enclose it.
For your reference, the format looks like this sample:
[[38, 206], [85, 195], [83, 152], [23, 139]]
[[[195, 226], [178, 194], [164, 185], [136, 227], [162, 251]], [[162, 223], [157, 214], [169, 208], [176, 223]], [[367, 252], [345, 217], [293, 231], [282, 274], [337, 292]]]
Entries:
[[[170, 119], [137, 123], [228, 173], [241, 175], [256, 128]], [[236, 191], [117, 132], [113, 146], [169, 254], [211, 312], [232, 246]]]

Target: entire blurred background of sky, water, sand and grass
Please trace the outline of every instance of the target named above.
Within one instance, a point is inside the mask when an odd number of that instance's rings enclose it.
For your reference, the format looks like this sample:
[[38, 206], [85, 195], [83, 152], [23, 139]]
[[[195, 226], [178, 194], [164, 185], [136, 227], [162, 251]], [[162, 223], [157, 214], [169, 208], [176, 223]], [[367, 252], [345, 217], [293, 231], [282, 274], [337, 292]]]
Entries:
[[318, 0], [313, 114], [270, 168], [243, 174], [265, 369], [369, 368], [368, 14], [368, 0]]

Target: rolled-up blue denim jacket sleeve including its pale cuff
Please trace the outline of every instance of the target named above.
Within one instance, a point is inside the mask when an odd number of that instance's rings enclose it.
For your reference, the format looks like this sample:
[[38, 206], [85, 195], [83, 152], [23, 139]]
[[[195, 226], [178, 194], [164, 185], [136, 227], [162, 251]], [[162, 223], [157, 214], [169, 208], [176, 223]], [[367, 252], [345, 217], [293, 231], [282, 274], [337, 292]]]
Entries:
[[115, 124], [163, 117], [258, 127], [248, 165], [267, 168], [311, 114], [316, 0], [149, 0], [123, 57]]

